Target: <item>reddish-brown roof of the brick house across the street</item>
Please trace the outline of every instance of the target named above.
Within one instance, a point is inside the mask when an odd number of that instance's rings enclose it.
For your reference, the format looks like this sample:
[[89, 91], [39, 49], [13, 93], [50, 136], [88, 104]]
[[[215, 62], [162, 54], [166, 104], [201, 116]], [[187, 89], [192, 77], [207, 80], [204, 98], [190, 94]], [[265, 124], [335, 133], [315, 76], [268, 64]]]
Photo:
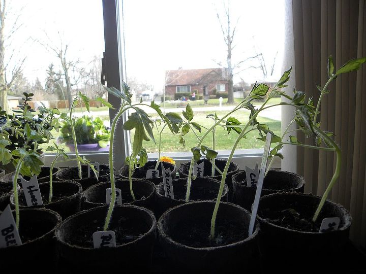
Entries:
[[225, 81], [225, 68], [200, 68], [197, 70], [171, 70], [165, 72], [166, 86], [199, 85]]

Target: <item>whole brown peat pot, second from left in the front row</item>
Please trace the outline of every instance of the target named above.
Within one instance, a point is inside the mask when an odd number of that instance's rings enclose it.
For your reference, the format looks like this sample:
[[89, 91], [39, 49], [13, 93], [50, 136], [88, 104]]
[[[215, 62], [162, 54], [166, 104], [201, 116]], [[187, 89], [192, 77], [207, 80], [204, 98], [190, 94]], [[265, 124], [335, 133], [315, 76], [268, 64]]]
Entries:
[[59, 224], [55, 235], [60, 272], [125, 273], [149, 271], [156, 239], [153, 212], [135, 205], [117, 205], [108, 230], [116, 236], [115, 248], [93, 248], [93, 233], [102, 231], [108, 206], [82, 211]]

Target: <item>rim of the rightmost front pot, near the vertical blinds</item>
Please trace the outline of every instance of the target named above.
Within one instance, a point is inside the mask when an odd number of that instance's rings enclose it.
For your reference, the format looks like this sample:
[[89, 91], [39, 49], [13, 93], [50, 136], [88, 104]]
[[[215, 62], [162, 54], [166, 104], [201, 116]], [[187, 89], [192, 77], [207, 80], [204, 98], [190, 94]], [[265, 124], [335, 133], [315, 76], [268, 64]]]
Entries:
[[[272, 193], [272, 194], [268, 194], [268, 195], [264, 195], [264, 196], [260, 197], [260, 199], [259, 199], [259, 207], [260, 207], [260, 204], [261, 204], [261, 200], [262, 199], [271, 198], [273, 196], [283, 196], [283, 195], [285, 195], [285, 196], [286, 195], [287, 196], [290, 196], [290, 195], [307, 196], [307, 197], [310, 197], [310, 198], [313, 198], [313, 199], [319, 199], [319, 200], [321, 199], [320, 196], [313, 195], [312, 193], [305, 194], [305, 193], [285, 192], [284, 191], [284, 192]], [[334, 207], [340, 208], [341, 211], [344, 213], [344, 218], [345, 218], [345, 220], [344, 220], [344, 226], [342, 226], [341, 228], [338, 228], [337, 230], [333, 230], [333, 231], [330, 231], [330, 232], [327, 232], [327, 233], [334, 233], [334, 232], [337, 232], [337, 231], [343, 231], [343, 230], [349, 229], [350, 226], [351, 226], [351, 224], [352, 224], [352, 216], [346, 210], [346, 208], [343, 207], [342, 204], [333, 202], [332, 200], [329, 200], [329, 199], [326, 199], [325, 202], [332, 204]], [[287, 227], [283, 227], [283, 226], [280, 226], [280, 225], [276, 225], [276, 224], [273, 224], [272, 222], [266, 221], [266, 219], [269, 219], [269, 218], [262, 218], [262, 217], [260, 217], [259, 216], [259, 213], [257, 213], [257, 219], [260, 222], [265, 223], [266, 225], [269, 225], [269, 226], [272, 226], [272, 227], [276, 227], [277, 229], [282, 229], [282, 230], [285, 230], [285, 231], [288, 231], [288, 232], [292, 232], [292, 233], [299, 233], [299, 234], [304, 234], [304, 235], [321, 235], [321, 234], [324, 234], [323, 232], [299, 231], [299, 230], [295, 230], [295, 229], [290, 229], [290, 228], [287, 228]]]

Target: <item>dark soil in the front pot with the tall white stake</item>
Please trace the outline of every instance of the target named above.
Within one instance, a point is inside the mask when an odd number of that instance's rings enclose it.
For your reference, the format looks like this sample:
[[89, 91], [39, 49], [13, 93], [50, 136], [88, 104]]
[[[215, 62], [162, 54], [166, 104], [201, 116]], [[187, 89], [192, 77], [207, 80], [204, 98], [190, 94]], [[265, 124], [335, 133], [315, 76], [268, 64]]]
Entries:
[[181, 221], [171, 229], [171, 238], [181, 244], [195, 247], [219, 247], [242, 241], [248, 237], [248, 227], [231, 220], [222, 223], [217, 220], [216, 237], [210, 239], [210, 222]]

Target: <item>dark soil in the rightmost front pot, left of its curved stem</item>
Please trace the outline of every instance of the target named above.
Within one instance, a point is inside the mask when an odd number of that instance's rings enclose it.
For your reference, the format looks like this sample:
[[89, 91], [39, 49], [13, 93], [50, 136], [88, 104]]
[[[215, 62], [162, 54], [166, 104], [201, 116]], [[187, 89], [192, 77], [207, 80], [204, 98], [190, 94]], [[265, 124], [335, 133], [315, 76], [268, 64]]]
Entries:
[[[262, 210], [261, 216], [265, 216], [266, 221], [275, 225], [286, 227], [289, 229], [305, 232], [319, 232], [321, 220], [314, 223], [312, 214], [298, 213], [294, 209], [286, 209], [281, 211], [273, 211], [272, 209]], [[320, 220], [320, 221], [319, 221]]]

